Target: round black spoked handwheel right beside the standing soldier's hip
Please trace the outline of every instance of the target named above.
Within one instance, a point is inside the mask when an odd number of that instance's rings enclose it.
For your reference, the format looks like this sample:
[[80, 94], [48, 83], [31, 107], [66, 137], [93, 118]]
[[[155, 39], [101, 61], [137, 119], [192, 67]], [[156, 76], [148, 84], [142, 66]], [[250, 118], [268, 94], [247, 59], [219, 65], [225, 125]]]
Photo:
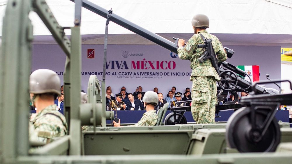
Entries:
[[[232, 77], [232, 75], [234, 75], [234, 77]], [[220, 75], [220, 78], [221, 79], [218, 82], [218, 85], [225, 91], [234, 90], [237, 86], [237, 75], [230, 70], [223, 71]]]

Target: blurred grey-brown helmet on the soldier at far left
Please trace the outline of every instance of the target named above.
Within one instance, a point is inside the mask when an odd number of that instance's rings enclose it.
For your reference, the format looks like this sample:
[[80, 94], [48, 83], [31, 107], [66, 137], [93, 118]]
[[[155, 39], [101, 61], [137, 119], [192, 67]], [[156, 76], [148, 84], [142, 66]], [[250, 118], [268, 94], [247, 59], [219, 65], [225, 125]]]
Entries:
[[49, 69], [35, 70], [29, 77], [29, 89], [33, 94], [53, 93], [60, 96], [60, 78]]

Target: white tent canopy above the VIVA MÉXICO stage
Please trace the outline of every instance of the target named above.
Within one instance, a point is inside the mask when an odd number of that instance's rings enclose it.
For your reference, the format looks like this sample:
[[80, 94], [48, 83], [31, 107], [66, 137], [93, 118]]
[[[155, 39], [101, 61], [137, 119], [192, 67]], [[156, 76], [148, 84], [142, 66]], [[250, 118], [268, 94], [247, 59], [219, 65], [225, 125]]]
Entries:
[[[174, 35], [190, 38], [193, 33], [190, 23], [192, 17], [204, 13], [210, 19], [208, 32], [221, 36], [219, 39], [229, 45], [292, 47], [292, 2], [288, 0], [90, 1], [107, 10], [112, 8], [115, 14], [168, 39]], [[74, 25], [73, 2], [46, 2], [61, 26]], [[0, 2], [1, 18], [6, 7], [3, 3], [5, 1]], [[32, 12], [30, 18], [34, 25], [35, 43], [54, 43], [51, 33], [38, 15]], [[84, 44], [103, 44], [105, 21], [105, 18], [82, 8], [81, 35]], [[69, 35], [70, 31], [66, 31], [66, 34]], [[109, 34], [109, 44], [152, 44], [112, 22], [109, 24]]]

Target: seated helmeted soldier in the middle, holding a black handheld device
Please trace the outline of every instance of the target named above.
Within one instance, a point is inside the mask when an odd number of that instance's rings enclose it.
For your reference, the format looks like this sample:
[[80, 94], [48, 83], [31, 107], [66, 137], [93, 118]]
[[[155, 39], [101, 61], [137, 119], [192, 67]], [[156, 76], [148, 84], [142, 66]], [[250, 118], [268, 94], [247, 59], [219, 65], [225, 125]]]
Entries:
[[[158, 104], [158, 95], [157, 93], [153, 91], [147, 91], [143, 97], [143, 102], [145, 106], [146, 112], [143, 114], [140, 121], [138, 121], [137, 124], [130, 125], [130, 126], [154, 126], [157, 122], [157, 114], [156, 110], [154, 110], [154, 107]], [[119, 122], [114, 122], [114, 126], [121, 126], [119, 119]]]

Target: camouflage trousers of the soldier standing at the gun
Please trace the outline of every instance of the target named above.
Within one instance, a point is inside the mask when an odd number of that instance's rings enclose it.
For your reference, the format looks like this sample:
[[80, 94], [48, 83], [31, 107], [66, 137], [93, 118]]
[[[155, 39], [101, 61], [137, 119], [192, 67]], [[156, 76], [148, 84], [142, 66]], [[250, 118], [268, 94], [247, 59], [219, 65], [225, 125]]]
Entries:
[[192, 76], [192, 115], [197, 124], [215, 124], [217, 86], [213, 76]]

